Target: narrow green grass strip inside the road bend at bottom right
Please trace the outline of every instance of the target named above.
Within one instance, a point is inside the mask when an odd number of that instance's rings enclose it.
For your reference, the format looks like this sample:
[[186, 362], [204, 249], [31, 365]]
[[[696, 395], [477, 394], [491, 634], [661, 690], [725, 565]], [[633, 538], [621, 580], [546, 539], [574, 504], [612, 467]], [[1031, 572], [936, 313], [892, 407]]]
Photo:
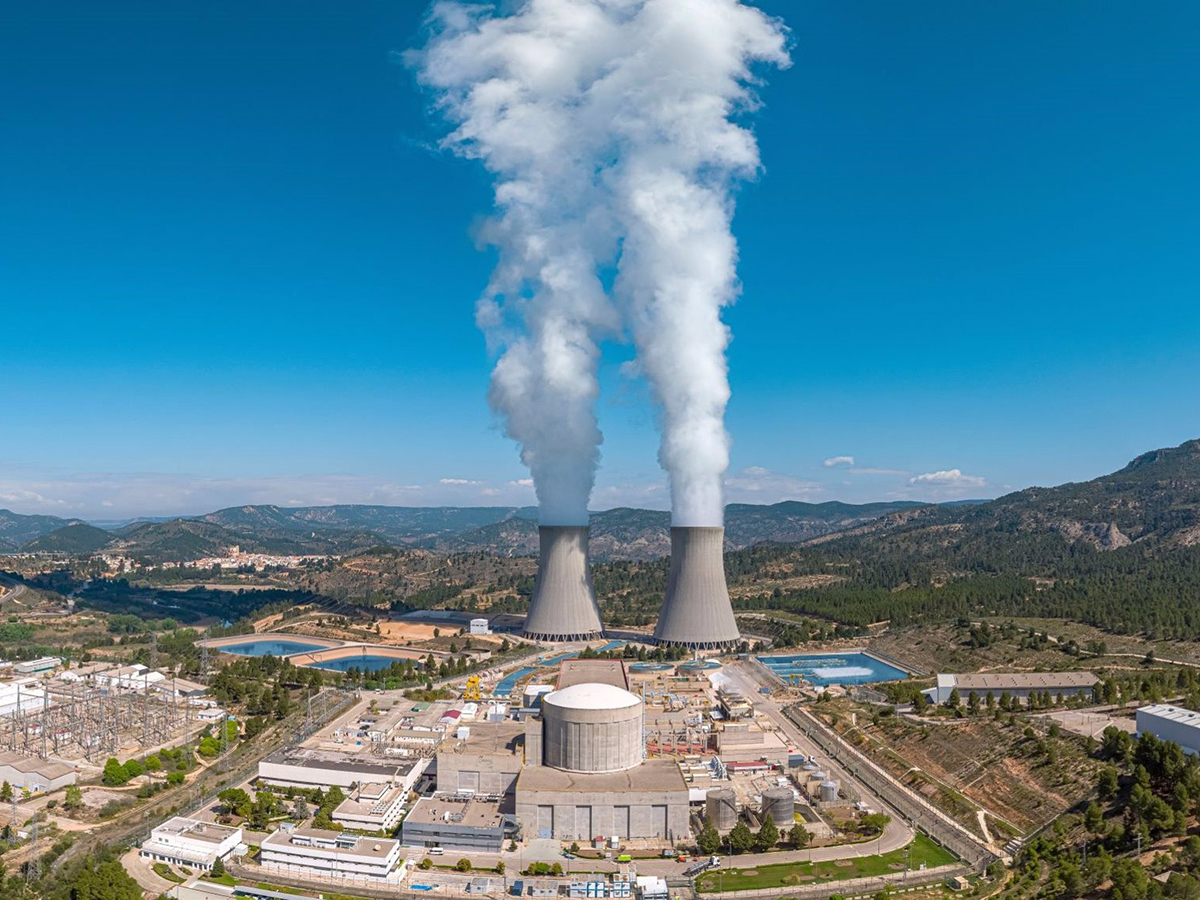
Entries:
[[948, 851], [942, 850], [924, 834], [918, 834], [907, 850], [893, 850], [882, 856], [838, 860], [842, 865], [839, 865], [838, 862], [784, 863], [781, 865], [758, 865], [754, 869], [715, 869], [702, 875], [696, 881], [696, 887], [704, 893], [715, 894], [722, 890], [780, 888], [797, 883], [816, 884], [824, 881], [862, 878], [871, 875], [894, 875], [904, 871], [905, 856], [910, 851], [908, 865], [912, 871], [919, 869], [922, 863], [932, 869], [958, 862]]

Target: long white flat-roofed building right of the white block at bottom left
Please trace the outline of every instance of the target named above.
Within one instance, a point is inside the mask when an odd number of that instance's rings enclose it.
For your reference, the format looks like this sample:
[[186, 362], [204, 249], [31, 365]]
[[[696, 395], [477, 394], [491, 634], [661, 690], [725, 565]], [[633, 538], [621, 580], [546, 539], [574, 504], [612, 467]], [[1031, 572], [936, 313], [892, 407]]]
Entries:
[[284, 823], [263, 839], [259, 863], [268, 871], [299, 878], [396, 882], [400, 841]]

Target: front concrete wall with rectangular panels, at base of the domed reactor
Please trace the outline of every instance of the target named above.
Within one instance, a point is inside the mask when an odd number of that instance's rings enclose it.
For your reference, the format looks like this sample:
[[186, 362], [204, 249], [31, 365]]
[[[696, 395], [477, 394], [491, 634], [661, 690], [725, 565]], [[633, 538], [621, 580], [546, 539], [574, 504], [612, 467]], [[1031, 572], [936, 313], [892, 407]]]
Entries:
[[686, 791], [520, 791], [517, 821], [526, 840], [546, 828], [556, 840], [587, 841], [598, 835], [678, 840], [690, 828]]

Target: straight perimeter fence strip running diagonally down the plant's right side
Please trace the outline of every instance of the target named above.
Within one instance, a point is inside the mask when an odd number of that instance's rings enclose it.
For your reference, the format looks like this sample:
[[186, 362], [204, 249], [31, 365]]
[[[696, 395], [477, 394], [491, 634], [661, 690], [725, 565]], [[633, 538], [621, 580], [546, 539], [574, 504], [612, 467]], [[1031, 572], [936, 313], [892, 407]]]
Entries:
[[791, 706], [784, 714], [884, 803], [956, 857], [967, 860], [973, 869], [983, 871], [996, 860], [996, 854], [983, 846], [966, 828], [899, 784], [808, 710]]

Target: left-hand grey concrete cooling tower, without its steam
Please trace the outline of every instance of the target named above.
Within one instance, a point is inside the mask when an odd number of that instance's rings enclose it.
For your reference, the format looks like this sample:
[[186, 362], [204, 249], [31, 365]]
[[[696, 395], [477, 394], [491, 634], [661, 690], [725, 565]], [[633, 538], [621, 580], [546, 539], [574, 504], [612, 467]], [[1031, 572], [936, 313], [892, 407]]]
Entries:
[[538, 580], [524, 636], [535, 641], [600, 637], [604, 628], [588, 569], [587, 526], [541, 526], [538, 545]]

